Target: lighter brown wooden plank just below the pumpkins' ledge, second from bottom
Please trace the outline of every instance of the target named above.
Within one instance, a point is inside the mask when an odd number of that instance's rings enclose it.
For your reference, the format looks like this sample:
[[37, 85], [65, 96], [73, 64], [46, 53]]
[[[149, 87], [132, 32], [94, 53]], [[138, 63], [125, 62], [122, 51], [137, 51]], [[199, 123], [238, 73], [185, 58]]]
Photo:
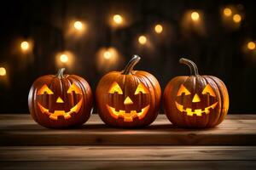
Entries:
[[256, 146], [4, 146], [1, 161], [256, 161]]

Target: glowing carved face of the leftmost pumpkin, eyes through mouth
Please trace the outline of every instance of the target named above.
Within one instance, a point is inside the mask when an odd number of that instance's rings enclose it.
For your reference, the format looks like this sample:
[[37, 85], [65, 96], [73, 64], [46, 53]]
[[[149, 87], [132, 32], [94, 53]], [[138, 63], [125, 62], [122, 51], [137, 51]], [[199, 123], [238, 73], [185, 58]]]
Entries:
[[[68, 97], [68, 95], [73, 94], [76, 95], [76, 100], [78, 100], [78, 103], [68, 104], [67, 101], [63, 101], [62, 94], [54, 94], [54, 92], [49, 89], [49, 87], [44, 84], [42, 88], [38, 90], [38, 108], [42, 113], [49, 116], [49, 119], [51, 120], [58, 120], [59, 117], [64, 117], [64, 119], [70, 119], [73, 114], [76, 114], [80, 111], [80, 108], [83, 104], [83, 98], [82, 98], [82, 91], [80, 88], [73, 82], [73, 84], [68, 88], [67, 98], [71, 98], [72, 96]], [[44, 96], [49, 95], [49, 96]], [[41, 104], [40, 100], [44, 100], [44, 97], [48, 98], [50, 102], [48, 105]], [[74, 98], [74, 99], [75, 99]], [[52, 103], [53, 102], [53, 103]], [[72, 106], [71, 108], [68, 106]]]

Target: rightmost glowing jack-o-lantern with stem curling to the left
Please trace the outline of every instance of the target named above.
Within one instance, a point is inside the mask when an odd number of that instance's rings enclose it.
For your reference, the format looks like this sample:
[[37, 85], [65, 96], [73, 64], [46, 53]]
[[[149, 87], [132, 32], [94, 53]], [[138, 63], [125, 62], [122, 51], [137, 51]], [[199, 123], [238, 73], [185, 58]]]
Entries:
[[200, 76], [197, 66], [189, 59], [189, 77], [174, 77], [163, 95], [168, 119], [178, 127], [214, 127], [223, 122], [229, 109], [227, 88], [217, 77]]

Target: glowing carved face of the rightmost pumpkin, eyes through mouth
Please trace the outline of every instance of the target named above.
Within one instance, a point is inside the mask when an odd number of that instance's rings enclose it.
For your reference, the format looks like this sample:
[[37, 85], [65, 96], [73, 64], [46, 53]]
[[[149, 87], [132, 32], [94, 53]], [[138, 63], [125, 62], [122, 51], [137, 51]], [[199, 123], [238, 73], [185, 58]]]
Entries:
[[201, 91], [201, 94], [191, 94], [183, 84], [177, 91], [175, 101], [177, 110], [187, 116], [202, 116], [210, 114], [211, 110], [218, 105], [218, 99], [210, 84]]

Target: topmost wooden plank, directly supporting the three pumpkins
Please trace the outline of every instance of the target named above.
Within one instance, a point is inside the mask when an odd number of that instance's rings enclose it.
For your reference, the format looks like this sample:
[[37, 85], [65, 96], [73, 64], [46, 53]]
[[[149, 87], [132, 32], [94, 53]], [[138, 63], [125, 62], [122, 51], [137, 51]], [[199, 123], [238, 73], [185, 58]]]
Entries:
[[29, 115], [0, 116], [0, 145], [255, 145], [256, 115], [230, 115], [218, 127], [173, 127], [160, 115], [149, 127], [108, 127], [98, 116], [78, 129], [55, 130], [39, 126]]

